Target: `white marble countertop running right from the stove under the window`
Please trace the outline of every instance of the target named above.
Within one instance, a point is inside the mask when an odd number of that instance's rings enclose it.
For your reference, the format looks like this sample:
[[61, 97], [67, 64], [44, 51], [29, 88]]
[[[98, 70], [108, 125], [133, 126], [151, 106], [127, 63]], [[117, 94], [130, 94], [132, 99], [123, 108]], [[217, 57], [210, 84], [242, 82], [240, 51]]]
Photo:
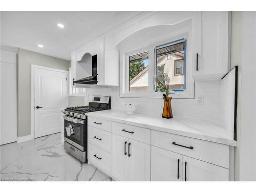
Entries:
[[116, 110], [90, 112], [86, 115], [230, 146], [237, 145], [237, 141], [233, 140], [233, 134], [230, 130], [206, 120], [188, 118], [164, 119], [161, 115], [156, 117], [155, 115], [142, 113], [127, 115], [123, 111]]

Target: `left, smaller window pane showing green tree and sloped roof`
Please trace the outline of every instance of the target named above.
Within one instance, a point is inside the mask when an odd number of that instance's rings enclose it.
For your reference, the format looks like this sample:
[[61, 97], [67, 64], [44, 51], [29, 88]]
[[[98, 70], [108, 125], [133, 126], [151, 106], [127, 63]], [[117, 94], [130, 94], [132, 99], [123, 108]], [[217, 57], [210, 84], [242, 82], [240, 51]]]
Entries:
[[148, 52], [129, 56], [129, 91], [147, 91]]

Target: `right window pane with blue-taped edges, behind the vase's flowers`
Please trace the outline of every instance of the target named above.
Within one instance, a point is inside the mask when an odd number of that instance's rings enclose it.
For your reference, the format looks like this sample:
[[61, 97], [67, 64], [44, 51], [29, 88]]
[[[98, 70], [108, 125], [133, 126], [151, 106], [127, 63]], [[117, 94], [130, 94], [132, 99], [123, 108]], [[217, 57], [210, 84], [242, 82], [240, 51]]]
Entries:
[[[185, 40], [182, 40], [174, 44], [159, 46], [156, 49], [156, 73], [158, 67], [162, 66], [163, 72], [170, 79], [169, 90], [172, 91], [183, 91], [185, 87], [185, 46]], [[157, 88], [156, 91], [158, 91]]]

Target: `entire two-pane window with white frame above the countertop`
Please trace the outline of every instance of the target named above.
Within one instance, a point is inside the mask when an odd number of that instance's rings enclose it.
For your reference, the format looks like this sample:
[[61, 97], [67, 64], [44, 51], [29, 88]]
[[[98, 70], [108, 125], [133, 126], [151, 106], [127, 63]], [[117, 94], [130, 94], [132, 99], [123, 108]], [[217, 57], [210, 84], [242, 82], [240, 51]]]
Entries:
[[194, 98], [193, 65], [190, 65], [193, 58], [191, 54], [187, 57], [187, 39], [155, 42], [138, 49], [134, 48], [135, 42], [129, 46], [120, 47], [120, 97], [162, 97], [156, 81], [157, 69], [163, 66], [172, 97]]

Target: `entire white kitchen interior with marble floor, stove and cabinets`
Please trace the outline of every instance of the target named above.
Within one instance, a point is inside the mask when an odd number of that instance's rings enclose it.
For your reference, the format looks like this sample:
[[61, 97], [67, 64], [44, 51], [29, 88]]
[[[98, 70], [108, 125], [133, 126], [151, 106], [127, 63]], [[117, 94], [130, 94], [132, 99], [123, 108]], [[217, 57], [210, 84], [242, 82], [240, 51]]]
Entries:
[[255, 181], [255, 19], [1, 11], [1, 180]]

